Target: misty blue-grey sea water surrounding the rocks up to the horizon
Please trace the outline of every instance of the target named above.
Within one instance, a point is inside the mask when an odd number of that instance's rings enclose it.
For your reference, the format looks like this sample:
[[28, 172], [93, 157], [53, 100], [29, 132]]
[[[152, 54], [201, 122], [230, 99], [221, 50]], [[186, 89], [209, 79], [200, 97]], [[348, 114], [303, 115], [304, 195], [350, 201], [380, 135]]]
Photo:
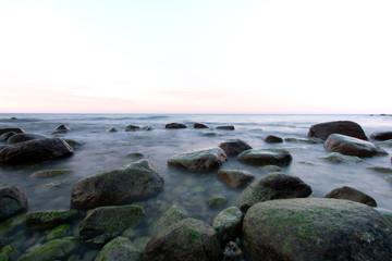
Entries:
[[[19, 186], [28, 199], [28, 211], [69, 209], [72, 186], [78, 179], [147, 159], [163, 177], [164, 185], [158, 195], [140, 202], [147, 214], [139, 228], [140, 234], [148, 236], [151, 222], [171, 204], [182, 206], [196, 219], [211, 224], [219, 211], [236, 204], [244, 188], [229, 187], [218, 177], [217, 170], [192, 173], [168, 165], [168, 159], [193, 149], [217, 147], [226, 139], [235, 138], [256, 149], [289, 150], [293, 161], [281, 169], [311, 186], [310, 197], [323, 197], [334, 188], [350, 186], [371, 196], [378, 207], [392, 210], [392, 173], [380, 173], [371, 169], [392, 167], [392, 148], [383, 148], [389, 152], [387, 156], [365, 158], [358, 163], [335, 163], [321, 158], [329, 153], [322, 144], [307, 144], [301, 139], [281, 144], [264, 141], [268, 135], [283, 139], [306, 138], [311, 125], [330, 121], [356, 122], [368, 137], [375, 132], [392, 130], [392, 116], [382, 114], [0, 114], [0, 128], [21, 127], [26, 133], [68, 138], [82, 144], [69, 158], [28, 167], [2, 166], [0, 184]], [[168, 123], [182, 123], [187, 128], [166, 129]], [[195, 129], [194, 123], [206, 124], [209, 128]], [[61, 124], [65, 124], [71, 130], [66, 134], [53, 134], [54, 128]], [[137, 125], [140, 129], [125, 132], [127, 125]], [[216, 128], [222, 125], [233, 125], [235, 129]], [[109, 132], [111, 128], [118, 132]], [[5, 144], [0, 142], [1, 145]], [[50, 178], [30, 176], [37, 171], [64, 169], [71, 173]], [[220, 169], [246, 170], [256, 178], [267, 174], [265, 169], [242, 163], [236, 157], [229, 157]], [[223, 196], [228, 203], [218, 208], [209, 207], [207, 200], [215, 196]], [[73, 231], [77, 234], [76, 226], [77, 224]], [[0, 233], [8, 233], [7, 236], [24, 233], [23, 225], [12, 232], [1, 227], [0, 224]], [[35, 232], [36, 241], [44, 234], [45, 232]], [[21, 244], [25, 249], [36, 243], [27, 236], [25, 240], [26, 243]]]

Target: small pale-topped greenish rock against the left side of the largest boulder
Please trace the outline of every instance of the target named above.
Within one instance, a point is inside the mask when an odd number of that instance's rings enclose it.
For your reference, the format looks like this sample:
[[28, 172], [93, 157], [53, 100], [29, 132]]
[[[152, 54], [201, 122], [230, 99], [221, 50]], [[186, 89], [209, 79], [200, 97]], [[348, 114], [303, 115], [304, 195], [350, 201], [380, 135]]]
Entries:
[[243, 214], [237, 207], [230, 207], [219, 212], [212, 220], [212, 228], [222, 244], [241, 237]]

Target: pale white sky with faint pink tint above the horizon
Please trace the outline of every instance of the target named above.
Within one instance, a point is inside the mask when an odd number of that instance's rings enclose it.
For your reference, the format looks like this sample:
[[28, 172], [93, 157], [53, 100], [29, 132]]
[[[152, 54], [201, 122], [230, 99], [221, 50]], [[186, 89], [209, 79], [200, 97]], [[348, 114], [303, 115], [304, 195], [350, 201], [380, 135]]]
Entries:
[[0, 0], [0, 112], [392, 113], [391, 14], [391, 0]]

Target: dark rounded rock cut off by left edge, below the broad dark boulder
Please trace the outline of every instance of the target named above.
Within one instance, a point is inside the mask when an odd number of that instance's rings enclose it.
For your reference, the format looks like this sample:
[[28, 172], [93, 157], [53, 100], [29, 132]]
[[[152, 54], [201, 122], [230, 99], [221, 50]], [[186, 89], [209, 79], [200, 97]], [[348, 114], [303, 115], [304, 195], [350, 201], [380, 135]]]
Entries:
[[0, 185], [0, 221], [3, 221], [26, 211], [26, 195], [16, 186]]

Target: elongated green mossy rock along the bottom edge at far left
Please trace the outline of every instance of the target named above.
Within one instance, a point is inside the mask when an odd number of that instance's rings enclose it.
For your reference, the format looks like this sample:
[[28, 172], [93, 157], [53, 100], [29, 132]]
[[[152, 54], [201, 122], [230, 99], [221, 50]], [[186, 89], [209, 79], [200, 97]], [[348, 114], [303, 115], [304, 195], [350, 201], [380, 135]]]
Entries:
[[76, 251], [78, 247], [79, 241], [75, 237], [54, 239], [44, 244], [33, 252], [23, 254], [17, 261], [65, 260], [65, 258]]

